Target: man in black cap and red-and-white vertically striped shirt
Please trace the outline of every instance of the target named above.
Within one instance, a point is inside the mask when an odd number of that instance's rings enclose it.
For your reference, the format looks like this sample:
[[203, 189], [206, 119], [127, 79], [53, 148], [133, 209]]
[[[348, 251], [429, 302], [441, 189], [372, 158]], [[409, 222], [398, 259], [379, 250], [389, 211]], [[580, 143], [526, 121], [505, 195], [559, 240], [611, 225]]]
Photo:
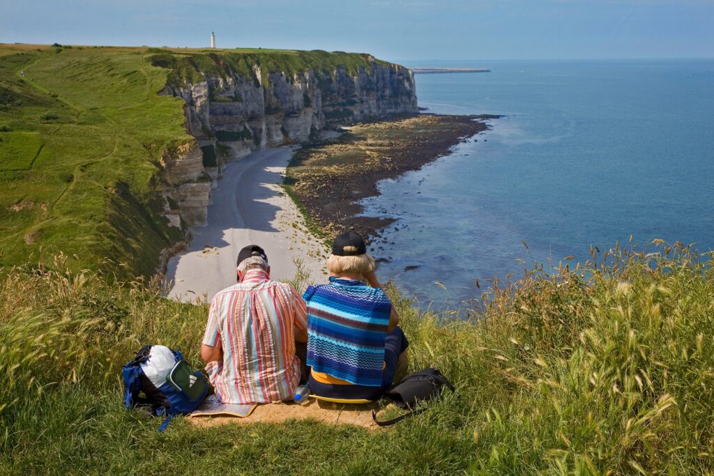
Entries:
[[307, 314], [301, 295], [270, 279], [263, 248], [238, 253], [238, 284], [211, 301], [201, 358], [224, 403], [291, 400], [301, 380], [296, 343], [305, 349]]

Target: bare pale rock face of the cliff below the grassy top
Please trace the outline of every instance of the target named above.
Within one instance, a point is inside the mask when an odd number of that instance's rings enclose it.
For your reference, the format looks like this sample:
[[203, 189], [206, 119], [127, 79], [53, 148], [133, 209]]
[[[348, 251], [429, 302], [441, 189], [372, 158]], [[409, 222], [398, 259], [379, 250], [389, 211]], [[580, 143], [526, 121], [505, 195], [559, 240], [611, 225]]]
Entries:
[[223, 161], [256, 148], [307, 143], [326, 127], [417, 113], [411, 70], [369, 61], [370, 69], [353, 75], [339, 67], [331, 74], [276, 72], [265, 80], [255, 65], [254, 77], [204, 75], [204, 81], [167, 86], [164, 93], [186, 101], [186, 128], [196, 138], [162, 159], [167, 218], [176, 224], [178, 214], [186, 226], [206, 224]]

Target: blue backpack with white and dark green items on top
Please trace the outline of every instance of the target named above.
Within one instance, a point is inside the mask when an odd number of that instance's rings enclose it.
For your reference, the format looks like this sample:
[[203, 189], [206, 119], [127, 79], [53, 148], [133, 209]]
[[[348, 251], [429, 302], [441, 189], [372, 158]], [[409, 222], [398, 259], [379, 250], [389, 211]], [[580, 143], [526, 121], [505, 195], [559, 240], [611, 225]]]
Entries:
[[126, 409], [144, 407], [151, 415], [166, 415], [160, 432], [174, 415], [196, 410], [208, 394], [206, 378], [194, 371], [178, 350], [164, 345], [144, 345], [121, 373]]

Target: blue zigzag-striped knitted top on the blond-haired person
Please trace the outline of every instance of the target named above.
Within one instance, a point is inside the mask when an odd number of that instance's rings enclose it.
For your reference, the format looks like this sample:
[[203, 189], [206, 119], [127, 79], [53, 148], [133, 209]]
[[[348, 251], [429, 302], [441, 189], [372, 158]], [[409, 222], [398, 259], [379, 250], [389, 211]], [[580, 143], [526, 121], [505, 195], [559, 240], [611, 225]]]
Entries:
[[308, 365], [317, 373], [356, 385], [380, 387], [391, 302], [378, 288], [330, 278], [310, 286]]

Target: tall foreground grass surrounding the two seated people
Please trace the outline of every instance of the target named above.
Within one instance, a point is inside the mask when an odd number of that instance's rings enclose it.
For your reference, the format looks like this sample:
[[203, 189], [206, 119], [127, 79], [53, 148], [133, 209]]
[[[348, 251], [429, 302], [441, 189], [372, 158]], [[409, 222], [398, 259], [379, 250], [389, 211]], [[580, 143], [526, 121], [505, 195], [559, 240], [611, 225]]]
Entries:
[[471, 320], [392, 290], [410, 370], [436, 366], [458, 393], [375, 433], [179, 418], [159, 435], [121, 407], [119, 370], [144, 343], [200, 368], [206, 304], [60, 272], [64, 259], [14, 268], [0, 283], [0, 472], [708, 474], [713, 258], [659, 243], [553, 273], [535, 263], [485, 293]]

